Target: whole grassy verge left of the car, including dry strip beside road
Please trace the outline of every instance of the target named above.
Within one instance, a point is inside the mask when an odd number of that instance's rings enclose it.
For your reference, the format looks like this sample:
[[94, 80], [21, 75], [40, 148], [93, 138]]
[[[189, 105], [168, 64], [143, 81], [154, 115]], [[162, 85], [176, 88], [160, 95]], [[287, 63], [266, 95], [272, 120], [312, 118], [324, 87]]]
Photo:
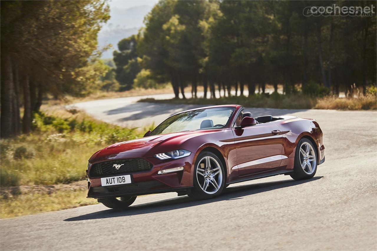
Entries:
[[[96, 203], [85, 198], [86, 182], [64, 190], [43, 187], [83, 181], [93, 153], [142, 137], [146, 130], [113, 126], [74, 109], [35, 113], [31, 133], [0, 141], [0, 217]], [[34, 189], [25, 190], [30, 186]]]

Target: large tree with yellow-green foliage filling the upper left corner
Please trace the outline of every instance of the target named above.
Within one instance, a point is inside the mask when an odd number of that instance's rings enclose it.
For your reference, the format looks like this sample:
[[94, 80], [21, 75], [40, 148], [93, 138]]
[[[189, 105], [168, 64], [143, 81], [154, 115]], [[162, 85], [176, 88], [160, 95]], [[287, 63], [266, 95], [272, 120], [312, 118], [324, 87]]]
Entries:
[[[82, 95], [91, 87], [86, 80], [88, 59], [100, 54], [97, 33], [109, 18], [109, 8], [102, 0], [5, 1], [0, 18], [1, 61], [6, 62], [1, 77], [8, 80], [2, 81], [2, 95], [14, 97], [10, 106], [8, 99], [1, 100], [0, 130], [5, 137], [17, 133], [15, 107], [21, 89], [23, 129], [28, 132], [31, 113], [39, 109], [44, 93]], [[18, 82], [23, 88], [17, 87]], [[10, 129], [9, 118], [13, 118]]]

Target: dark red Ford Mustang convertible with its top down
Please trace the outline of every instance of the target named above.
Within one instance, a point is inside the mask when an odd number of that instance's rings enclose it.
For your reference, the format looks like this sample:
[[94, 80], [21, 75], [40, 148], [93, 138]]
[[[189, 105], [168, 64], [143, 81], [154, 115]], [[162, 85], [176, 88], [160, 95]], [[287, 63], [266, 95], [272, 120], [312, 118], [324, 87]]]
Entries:
[[89, 159], [89, 198], [125, 208], [142, 194], [210, 199], [229, 184], [277, 174], [310, 179], [325, 161], [319, 124], [296, 116], [253, 118], [240, 105], [177, 113], [143, 138], [110, 145]]

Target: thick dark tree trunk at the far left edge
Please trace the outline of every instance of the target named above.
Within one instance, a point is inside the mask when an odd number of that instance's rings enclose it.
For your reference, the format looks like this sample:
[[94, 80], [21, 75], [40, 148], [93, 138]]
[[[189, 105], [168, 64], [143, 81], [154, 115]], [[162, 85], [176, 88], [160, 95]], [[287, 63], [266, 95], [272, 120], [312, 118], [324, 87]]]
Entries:
[[2, 62], [2, 74], [4, 73], [1, 90], [1, 118], [0, 118], [0, 135], [2, 138], [10, 137], [15, 134], [13, 121], [13, 73], [12, 61], [9, 54], [5, 55]]

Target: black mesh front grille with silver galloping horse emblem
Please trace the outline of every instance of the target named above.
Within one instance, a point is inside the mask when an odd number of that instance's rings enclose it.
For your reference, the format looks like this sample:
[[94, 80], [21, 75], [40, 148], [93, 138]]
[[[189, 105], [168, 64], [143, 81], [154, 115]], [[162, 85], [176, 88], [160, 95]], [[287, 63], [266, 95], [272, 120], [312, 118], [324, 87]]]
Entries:
[[[121, 165], [117, 170], [114, 165]], [[120, 175], [135, 173], [152, 169], [152, 163], [143, 158], [136, 159], [117, 159], [93, 164], [90, 168], [90, 177], [100, 177], [109, 175]]]

